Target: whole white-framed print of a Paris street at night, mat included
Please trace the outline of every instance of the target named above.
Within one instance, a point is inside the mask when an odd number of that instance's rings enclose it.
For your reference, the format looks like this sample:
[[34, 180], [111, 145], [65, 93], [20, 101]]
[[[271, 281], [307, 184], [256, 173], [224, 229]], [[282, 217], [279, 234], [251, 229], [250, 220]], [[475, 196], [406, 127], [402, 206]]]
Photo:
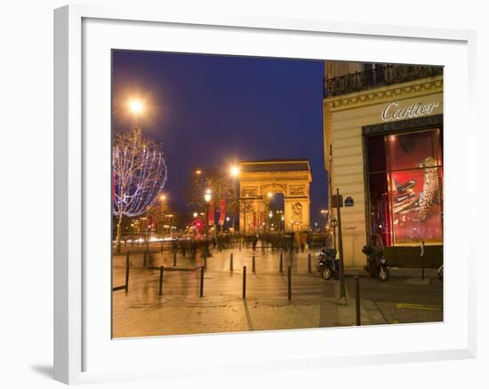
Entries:
[[473, 33], [67, 6], [54, 39], [56, 379], [475, 354]]

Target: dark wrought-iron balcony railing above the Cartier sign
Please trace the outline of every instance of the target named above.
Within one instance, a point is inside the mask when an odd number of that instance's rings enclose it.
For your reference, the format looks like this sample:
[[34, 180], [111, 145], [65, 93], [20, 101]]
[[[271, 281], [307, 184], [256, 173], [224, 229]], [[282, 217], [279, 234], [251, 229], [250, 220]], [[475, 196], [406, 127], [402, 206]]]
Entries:
[[325, 98], [355, 91], [365, 91], [393, 83], [405, 83], [419, 78], [443, 75], [443, 67], [411, 65], [377, 65], [364, 72], [325, 80]]

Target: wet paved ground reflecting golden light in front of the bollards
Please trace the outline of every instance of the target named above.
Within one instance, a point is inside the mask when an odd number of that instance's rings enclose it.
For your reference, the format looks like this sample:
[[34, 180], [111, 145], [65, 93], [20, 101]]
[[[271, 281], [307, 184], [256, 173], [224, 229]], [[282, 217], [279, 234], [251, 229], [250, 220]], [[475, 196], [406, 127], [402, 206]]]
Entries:
[[[231, 253], [233, 254], [231, 270]], [[197, 253], [198, 254], [198, 253]], [[282, 270], [280, 272], [280, 254]], [[113, 292], [113, 336], [140, 337], [266, 329], [305, 329], [356, 324], [355, 280], [346, 270], [347, 306], [340, 304], [340, 282], [325, 281], [316, 272], [316, 253], [278, 250], [213, 250], [206, 258], [204, 296], [200, 297], [204, 259], [181, 252], [130, 254], [128, 292]], [[125, 255], [113, 261], [114, 286], [124, 284]], [[173, 266], [176, 265], [176, 266]], [[159, 295], [159, 266], [164, 266]], [[243, 298], [246, 266], [246, 298]], [[288, 299], [291, 267], [291, 300]], [[388, 282], [360, 279], [363, 325], [443, 321], [443, 282], [436, 271], [392, 269]]]

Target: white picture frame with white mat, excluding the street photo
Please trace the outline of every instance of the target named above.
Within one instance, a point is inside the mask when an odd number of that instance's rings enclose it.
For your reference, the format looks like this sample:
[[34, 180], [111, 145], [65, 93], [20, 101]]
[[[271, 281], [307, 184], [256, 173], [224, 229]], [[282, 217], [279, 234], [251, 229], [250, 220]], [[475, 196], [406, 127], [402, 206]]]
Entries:
[[[197, 33], [206, 39], [198, 42]], [[163, 42], [161, 37], [169, 34], [171, 42]], [[474, 357], [476, 279], [469, 267], [475, 267], [476, 242], [461, 226], [476, 219], [476, 210], [468, 210], [465, 218], [452, 210], [465, 196], [475, 197], [477, 190], [476, 185], [467, 185], [471, 179], [477, 182], [473, 143], [477, 130], [474, 115], [470, 113], [475, 106], [475, 39], [474, 32], [465, 30], [284, 20], [261, 15], [216, 13], [212, 18], [203, 18], [192, 12], [180, 14], [165, 9], [92, 5], [69, 5], [55, 10], [55, 379], [72, 384], [185, 377], [189, 370], [196, 375], [222, 369], [236, 372], [321, 369]], [[111, 340], [107, 337], [110, 322], [107, 304], [110, 299], [107, 288], [110, 282], [109, 197], [103, 194], [110, 177], [107, 174], [110, 169], [108, 51], [127, 48], [332, 59], [325, 57], [322, 43], [329, 45], [328, 50], [335, 60], [445, 66], [445, 176], [448, 178], [445, 185], [445, 322]], [[355, 52], [341, 48], [345, 44], [355, 47]], [[373, 47], [380, 47], [375, 44], [382, 44], [381, 47], [388, 50], [373, 51]], [[270, 47], [274, 47], [274, 52]], [[420, 50], [414, 50], [416, 48]], [[97, 83], [102, 93], [93, 93], [92, 83]], [[105, 130], [91, 132], [94, 126]], [[460, 127], [467, 136], [454, 144], [455, 128]], [[460, 178], [458, 185], [464, 187], [465, 193], [456, 187], [451, 175]], [[96, 195], [94, 191], [101, 194]], [[99, 223], [97, 215], [104, 214], [104, 210], [108, 216], [100, 217]], [[452, 242], [455, 239], [457, 244]], [[94, 253], [99, 258], [97, 262], [93, 262]], [[459, 258], [456, 272], [451, 266], [455, 258]], [[451, 288], [455, 283], [457, 290]], [[383, 337], [388, 340], [387, 345], [374, 348], [365, 337]], [[404, 341], [397, 342], [399, 337]], [[161, 353], [162, 345], [167, 352]], [[258, 356], [253, 347], [259, 345]], [[184, 351], [192, 348], [197, 350], [195, 355], [184, 360]], [[199, 350], [211, 350], [211, 353], [203, 354]], [[126, 361], [132, 369], [124, 365]]]

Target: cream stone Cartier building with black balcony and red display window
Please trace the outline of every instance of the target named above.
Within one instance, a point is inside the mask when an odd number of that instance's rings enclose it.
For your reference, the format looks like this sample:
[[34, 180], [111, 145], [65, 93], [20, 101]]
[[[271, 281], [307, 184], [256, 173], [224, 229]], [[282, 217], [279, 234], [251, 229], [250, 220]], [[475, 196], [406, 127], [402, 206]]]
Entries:
[[443, 68], [326, 61], [324, 126], [330, 196], [349, 198], [345, 265], [363, 266], [367, 243], [393, 266], [421, 266], [424, 244], [441, 265]]

